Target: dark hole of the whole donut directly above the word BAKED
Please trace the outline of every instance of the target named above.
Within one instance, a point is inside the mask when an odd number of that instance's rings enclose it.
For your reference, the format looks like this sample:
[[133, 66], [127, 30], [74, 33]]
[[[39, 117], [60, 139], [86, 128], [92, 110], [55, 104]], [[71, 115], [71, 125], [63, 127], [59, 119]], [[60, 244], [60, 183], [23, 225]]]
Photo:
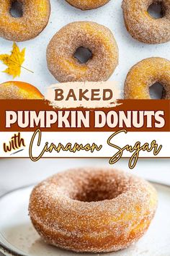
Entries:
[[89, 48], [79, 47], [73, 55], [81, 64], [85, 64], [92, 58], [92, 53]]

